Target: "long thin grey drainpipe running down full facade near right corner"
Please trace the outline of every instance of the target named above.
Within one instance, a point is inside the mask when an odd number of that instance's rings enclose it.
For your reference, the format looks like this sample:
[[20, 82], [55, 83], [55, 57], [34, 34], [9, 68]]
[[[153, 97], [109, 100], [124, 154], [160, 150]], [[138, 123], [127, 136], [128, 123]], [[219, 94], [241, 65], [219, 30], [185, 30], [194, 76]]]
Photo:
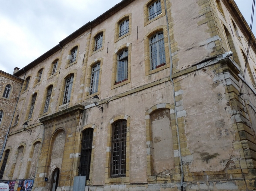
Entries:
[[177, 119], [177, 107], [176, 107], [176, 99], [175, 99], [175, 90], [174, 90], [174, 82], [171, 77], [171, 73], [173, 71], [173, 59], [171, 58], [171, 43], [170, 43], [170, 32], [169, 32], [169, 23], [167, 16], [167, 8], [166, 8], [166, 0], [164, 0], [164, 9], [166, 15], [166, 24], [167, 24], [167, 37], [168, 37], [168, 49], [169, 49], [169, 57], [170, 57], [170, 80], [173, 83], [173, 99], [174, 99], [174, 111], [175, 111], [175, 121], [176, 121], [176, 129], [177, 129], [177, 138], [178, 138], [178, 154], [180, 155], [180, 163], [181, 163], [181, 190], [183, 191], [183, 167], [182, 167], [182, 159], [181, 159], [181, 144], [180, 144], [180, 133], [178, 129], [178, 119]]

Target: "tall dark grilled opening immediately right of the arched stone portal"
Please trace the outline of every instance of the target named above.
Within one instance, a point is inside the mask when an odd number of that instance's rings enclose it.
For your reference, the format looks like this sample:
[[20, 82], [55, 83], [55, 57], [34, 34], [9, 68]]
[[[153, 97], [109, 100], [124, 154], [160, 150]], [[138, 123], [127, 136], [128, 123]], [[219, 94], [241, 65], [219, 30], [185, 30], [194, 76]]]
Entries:
[[80, 162], [80, 168], [79, 168], [79, 174], [81, 176], [86, 176], [86, 179], [89, 179], [89, 174], [90, 174], [92, 145], [93, 145], [93, 128], [88, 128], [83, 132], [81, 162]]

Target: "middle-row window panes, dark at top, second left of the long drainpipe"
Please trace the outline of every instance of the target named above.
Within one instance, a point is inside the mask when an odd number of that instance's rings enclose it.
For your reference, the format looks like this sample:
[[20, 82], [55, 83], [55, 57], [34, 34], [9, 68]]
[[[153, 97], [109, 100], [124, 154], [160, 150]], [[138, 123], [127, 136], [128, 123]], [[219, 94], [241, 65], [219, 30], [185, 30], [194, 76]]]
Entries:
[[123, 50], [118, 55], [116, 82], [123, 81], [127, 78], [128, 78], [128, 49]]

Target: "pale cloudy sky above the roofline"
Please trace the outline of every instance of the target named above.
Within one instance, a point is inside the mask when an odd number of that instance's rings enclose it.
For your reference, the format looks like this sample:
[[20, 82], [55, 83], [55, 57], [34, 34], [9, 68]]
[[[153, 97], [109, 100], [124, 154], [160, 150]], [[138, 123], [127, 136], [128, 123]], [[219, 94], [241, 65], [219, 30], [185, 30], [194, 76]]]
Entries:
[[[0, 70], [12, 74], [13, 68], [23, 68], [120, 1], [2, 0]], [[250, 23], [252, 0], [235, 1]], [[252, 30], [256, 35], [255, 22]]]

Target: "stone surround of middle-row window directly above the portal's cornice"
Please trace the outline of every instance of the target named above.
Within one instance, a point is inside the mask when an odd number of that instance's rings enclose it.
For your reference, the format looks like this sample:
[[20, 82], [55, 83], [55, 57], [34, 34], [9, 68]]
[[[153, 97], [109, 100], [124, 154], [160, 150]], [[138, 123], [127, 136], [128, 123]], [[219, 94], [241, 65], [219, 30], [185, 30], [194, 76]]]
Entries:
[[[77, 74], [77, 69], [73, 69], [70, 70], [68, 72], [68, 74], [65, 76], [65, 78], [63, 78], [60, 82], [60, 93], [59, 93], [59, 103], [57, 105], [56, 111], [58, 111], [60, 108], [62, 108], [62, 106], [69, 106], [69, 105], [73, 105], [72, 104], [72, 100], [73, 100], [73, 94], [74, 94], [74, 89], [75, 89], [75, 80], [76, 80], [76, 74]], [[70, 100], [68, 103], [66, 104], [62, 104], [63, 103], [63, 97], [64, 97], [64, 91], [65, 91], [65, 86], [66, 86], [66, 79], [69, 78], [70, 75], [74, 75], [73, 78], [73, 84], [72, 84], [72, 90], [71, 90], [71, 95], [70, 95]]]

